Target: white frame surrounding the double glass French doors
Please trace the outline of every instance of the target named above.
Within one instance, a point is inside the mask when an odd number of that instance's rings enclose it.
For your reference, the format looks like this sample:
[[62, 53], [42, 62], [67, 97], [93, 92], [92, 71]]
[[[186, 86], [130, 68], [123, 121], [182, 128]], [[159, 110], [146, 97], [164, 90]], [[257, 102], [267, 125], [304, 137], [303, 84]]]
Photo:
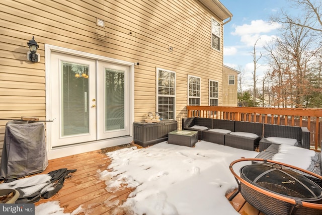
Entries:
[[[46, 148], [48, 153], [48, 159], [60, 158], [69, 155], [75, 155], [79, 153], [90, 152], [94, 150], [103, 149], [106, 147], [117, 146], [121, 144], [127, 144], [133, 140], [133, 122], [134, 122], [134, 63], [118, 60], [110, 57], [104, 57], [101, 55], [91, 54], [83, 51], [72, 50], [59, 46], [53, 46], [45, 44], [45, 78], [46, 78], [46, 119], [52, 120], [52, 105], [51, 105], [51, 51], [61, 52], [65, 54], [71, 54], [96, 60], [102, 60], [111, 63], [118, 63], [122, 65], [130, 66], [130, 135], [125, 137], [103, 139], [98, 141], [85, 142], [82, 144], [75, 144], [63, 147], [52, 147], [53, 137], [51, 130], [53, 129], [50, 122], [46, 123]], [[58, 120], [58, 119], [53, 119]]]

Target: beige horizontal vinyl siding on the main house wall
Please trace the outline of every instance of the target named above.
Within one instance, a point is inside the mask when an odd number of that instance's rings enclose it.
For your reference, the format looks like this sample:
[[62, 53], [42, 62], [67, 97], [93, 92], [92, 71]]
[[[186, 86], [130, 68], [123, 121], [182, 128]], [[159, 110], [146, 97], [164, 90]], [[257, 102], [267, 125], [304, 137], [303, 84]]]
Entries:
[[[3, 1], [0, 118], [46, 119], [44, 44], [50, 44], [139, 62], [134, 70], [134, 121], [155, 112], [155, 68], [175, 71], [180, 122], [186, 115], [187, 75], [201, 78], [201, 105], [208, 105], [209, 79], [219, 82], [222, 95], [222, 51], [211, 49], [212, 16], [219, 21], [198, 0]], [[105, 28], [96, 25], [97, 18], [105, 21]], [[39, 44], [39, 63], [27, 61], [27, 42], [32, 36]], [[0, 149], [5, 124], [0, 121]]]

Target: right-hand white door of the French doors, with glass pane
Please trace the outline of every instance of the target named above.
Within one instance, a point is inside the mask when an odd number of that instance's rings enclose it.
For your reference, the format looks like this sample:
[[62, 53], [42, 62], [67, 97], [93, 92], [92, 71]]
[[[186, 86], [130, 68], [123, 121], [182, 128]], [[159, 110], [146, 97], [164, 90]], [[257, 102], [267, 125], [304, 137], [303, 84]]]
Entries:
[[130, 67], [98, 61], [97, 138], [130, 134]]

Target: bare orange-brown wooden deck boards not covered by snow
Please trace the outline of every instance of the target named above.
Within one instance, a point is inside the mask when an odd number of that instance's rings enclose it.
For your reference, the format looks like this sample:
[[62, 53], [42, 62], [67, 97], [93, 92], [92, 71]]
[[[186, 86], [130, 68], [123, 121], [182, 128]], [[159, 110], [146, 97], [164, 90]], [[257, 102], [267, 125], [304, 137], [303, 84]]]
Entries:
[[[72, 174], [71, 178], [66, 178], [64, 186], [58, 193], [49, 199], [41, 199], [35, 205], [48, 201], [59, 201], [60, 207], [64, 208], [65, 213], [70, 213], [82, 206], [83, 211], [78, 212], [78, 215], [131, 214], [124, 209], [120, 210], [117, 205], [122, 204], [132, 190], [122, 188], [116, 193], [110, 193], [105, 189], [105, 182], [98, 180], [97, 171], [106, 170], [110, 162], [110, 159], [101, 150], [49, 160], [47, 169], [41, 174], [60, 168], [76, 169], [76, 172]], [[227, 194], [226, 197], [229, 198], [231, 194]], [[115, 204], [116, 206], [107, 206], [111, 205], [110, 202], [117, 204]], [[265, 215], [246, 202], [240, 193], [230, 203], [240, 214]]]

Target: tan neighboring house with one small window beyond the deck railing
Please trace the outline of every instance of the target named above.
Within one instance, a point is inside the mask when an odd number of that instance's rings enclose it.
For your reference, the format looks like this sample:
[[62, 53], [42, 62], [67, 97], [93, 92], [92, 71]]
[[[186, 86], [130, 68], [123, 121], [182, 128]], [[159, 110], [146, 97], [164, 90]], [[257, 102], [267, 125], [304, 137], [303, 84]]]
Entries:
[[237, 76], [239, 71], [223, 65], [222, 106], [237, 107]]

